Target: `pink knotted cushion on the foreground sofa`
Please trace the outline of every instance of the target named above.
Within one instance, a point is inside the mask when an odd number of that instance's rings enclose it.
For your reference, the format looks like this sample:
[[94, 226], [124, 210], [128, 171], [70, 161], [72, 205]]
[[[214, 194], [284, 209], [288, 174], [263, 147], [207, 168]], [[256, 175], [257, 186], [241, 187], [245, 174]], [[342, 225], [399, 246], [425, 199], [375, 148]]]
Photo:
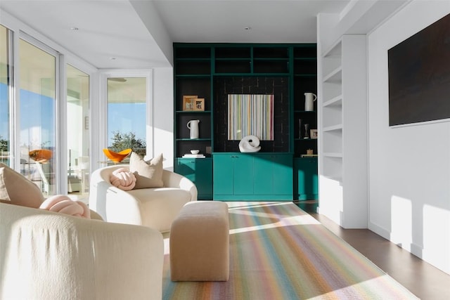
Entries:
[[91, 219], [91, 211], [81, 201], [73, 201], [65, 195], [54, 195], [42, 202], [40, 209], [55, 211], [70, 216], [80, 216], [82, 218]]

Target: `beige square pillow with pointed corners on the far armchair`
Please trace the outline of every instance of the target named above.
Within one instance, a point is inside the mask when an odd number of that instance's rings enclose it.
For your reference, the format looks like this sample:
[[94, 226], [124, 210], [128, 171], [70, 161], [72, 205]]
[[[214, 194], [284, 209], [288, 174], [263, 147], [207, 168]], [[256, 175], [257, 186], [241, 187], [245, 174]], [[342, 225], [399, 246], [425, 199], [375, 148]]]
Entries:
[[162, 188], [162, 154], [145, 161], [139, 154], [131, 152], [129, 171], [136, 176], [134, 189]]

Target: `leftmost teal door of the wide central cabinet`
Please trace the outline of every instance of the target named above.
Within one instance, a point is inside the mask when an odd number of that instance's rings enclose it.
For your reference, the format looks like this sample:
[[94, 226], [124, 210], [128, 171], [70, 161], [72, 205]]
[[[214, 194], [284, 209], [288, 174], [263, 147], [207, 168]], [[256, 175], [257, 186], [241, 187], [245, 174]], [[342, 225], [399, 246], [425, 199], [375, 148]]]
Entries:
[[233, 195], [233, 157], [231, 155], [214, 155], [214, 195]]

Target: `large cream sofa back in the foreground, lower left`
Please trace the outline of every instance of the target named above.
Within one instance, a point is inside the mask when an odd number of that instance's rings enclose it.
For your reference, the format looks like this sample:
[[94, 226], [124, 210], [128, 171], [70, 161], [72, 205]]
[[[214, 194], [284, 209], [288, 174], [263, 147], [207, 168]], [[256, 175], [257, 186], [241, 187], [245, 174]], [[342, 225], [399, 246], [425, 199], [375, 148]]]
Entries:
[[158, 230], [0, 203], [0, 299], [161, 299]]

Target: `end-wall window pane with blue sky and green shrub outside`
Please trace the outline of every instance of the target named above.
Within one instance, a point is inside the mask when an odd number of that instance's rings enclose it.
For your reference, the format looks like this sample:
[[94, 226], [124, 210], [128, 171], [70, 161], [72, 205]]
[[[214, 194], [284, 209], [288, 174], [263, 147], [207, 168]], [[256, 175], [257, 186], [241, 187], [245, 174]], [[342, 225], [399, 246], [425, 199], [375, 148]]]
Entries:
[[108, 148], [146, 155], [146, 77], [108, 78]]

